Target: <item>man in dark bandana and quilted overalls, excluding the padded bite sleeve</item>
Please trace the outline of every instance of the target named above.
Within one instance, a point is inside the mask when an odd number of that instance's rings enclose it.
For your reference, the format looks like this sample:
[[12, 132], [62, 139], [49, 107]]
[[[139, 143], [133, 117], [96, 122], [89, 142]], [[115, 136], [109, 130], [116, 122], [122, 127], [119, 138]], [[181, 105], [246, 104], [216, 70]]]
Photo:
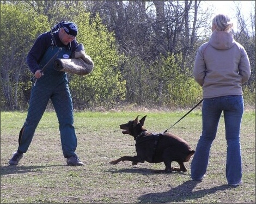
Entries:
[[84, 165], [75, 152], [77, 138], [73, 126], [74, 110], [68, 78], [66, 72], [54, 69], [54, 59], [68, 59], [74, 56], [78, 47], [77, 33], [78, 29], [75, 23], [60, 22], [50, 32], [42, 33], [29, 51], [27, 64], [31, 72], [34, 73], [34, 84], [27, 118], [19, 135], [19, 147], [9, 160], [10, 165], [17, 165], [23, 157], [23, 153], [27, 152], [35, 129], [50, 99], [57, 114], [62, 151], [66, 163], [71, 166]]

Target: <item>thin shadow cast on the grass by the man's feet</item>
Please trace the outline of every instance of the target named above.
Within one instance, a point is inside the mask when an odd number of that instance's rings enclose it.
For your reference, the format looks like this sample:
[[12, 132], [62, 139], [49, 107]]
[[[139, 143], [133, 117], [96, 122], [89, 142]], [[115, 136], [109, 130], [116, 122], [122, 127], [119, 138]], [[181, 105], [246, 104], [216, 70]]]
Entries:
[[25, 174], [27, 172], [38, 171], [41, 168], [48, 168], [51, 166], [64, 166], [64, 165], [48, 165], [48, 166], [1, 166], [0, 175], [8, 174]]

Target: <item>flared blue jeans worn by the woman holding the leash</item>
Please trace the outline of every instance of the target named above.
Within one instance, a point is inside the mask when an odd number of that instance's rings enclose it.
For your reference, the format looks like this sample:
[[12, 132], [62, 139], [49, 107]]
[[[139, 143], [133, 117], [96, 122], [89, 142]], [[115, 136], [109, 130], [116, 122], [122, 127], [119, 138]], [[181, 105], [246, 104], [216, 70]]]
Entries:
[[202, 107], [203, 131], [191, 162], [191, 178], [201, 180], [206, 173], [212, 142], [217, 133], [223, 111], [227, 159], [225, 175], [228, 184], [236, 184], [242, 178], [240, 126], [243, 115], [243, 96], [205, 98]]

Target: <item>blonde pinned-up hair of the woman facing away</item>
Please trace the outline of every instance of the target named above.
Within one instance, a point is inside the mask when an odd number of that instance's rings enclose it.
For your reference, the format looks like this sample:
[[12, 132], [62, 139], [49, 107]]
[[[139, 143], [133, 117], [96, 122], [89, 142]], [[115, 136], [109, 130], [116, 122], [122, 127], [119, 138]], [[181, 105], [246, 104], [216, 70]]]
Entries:
[[218, 14], [212, 19], [212, 24], [216, 24], [217, 31], [231, 32], [234, 23], [231, 22], [230, 17], [225, 14]]

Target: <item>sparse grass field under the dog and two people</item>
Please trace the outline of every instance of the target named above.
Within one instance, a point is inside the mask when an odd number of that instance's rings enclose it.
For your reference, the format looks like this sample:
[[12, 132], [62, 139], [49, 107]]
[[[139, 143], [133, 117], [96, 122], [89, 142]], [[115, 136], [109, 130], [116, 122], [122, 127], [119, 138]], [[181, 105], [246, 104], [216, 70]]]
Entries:
[[[187, 172], [172, 174], [152, 171], [164, 169], [163, 163], [109, 164], [121, 156], [136, 155], [135, 141], [121, 133], [121, 123], [148, 115], [144, 126], [160, 133], [186, 113], [75, 113], [76, 152], [85, 166], [67, 166], [56, 114], [46, 112], [20, 164], [9, 166], [27, 113], [1, 112], [1, 203], [255, 203], [255, 110], [246, 110], [242, 120], [242, 186], [230, 187], [225, 179], [223, 117], [202, 182], [191, 181], [191, 160], [185, 163]], [[201, 129], [201, 112], [193, 110], [168, 132], [179, 135], [195, 149]], [[175, 162], [172, 165], [178, 166]]]

